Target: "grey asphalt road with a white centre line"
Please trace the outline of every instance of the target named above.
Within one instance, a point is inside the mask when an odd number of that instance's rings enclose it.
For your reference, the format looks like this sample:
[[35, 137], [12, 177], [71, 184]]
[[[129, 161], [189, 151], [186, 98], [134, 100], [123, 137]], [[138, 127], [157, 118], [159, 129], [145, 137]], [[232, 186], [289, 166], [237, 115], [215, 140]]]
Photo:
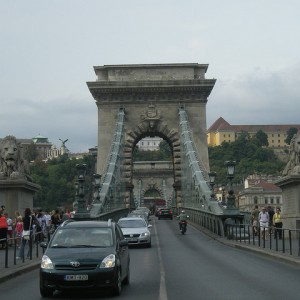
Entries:
[[[153, 217], [152, 248], [131, 248], [131, 283], [119, 299], [300, 299], [300, 268], [228, 247], [176, 220]], [[35, 300], [38, 270], [0, 285], [5, 299]], [[112, 299], [103, 292], [56, 292], [53, 299]]]

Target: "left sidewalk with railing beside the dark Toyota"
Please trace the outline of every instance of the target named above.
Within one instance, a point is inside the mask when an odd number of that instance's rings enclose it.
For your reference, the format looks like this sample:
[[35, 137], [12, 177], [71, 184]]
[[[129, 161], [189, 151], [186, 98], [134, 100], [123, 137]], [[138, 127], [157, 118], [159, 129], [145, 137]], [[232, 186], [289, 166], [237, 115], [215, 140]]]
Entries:
[[[25, 253], [27, 253], [28, 246], [26, 245]], [[37, 252], [38, 250], [38, 252]], [[16, 251], [16, 253], [15, 253]], [[14, 246], [8, 247], [7, 249], [7, 268], [6, 266], [6, 249], [0, 249], [0, 283], [14, 278], [20, 274], [30, 272], [40, 266], [40, 262], [43, 256], [41, 247], [36, 247], [33, 243], [32, 246], [32, 259], [25, 258], [24, 262], [22, 259], [16, 259], [16, 254], [19, 249], [14, 249]]]

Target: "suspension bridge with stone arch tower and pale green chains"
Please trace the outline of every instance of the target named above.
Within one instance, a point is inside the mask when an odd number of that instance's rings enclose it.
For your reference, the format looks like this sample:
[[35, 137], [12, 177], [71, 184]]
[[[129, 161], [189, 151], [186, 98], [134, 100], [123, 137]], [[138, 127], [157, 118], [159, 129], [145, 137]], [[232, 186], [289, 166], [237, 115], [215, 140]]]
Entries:
[[[146, 191], [154, 189], [167, 206], [184, 208], [192, 222], [217, 234], [224, 235], [229, 218], [242, 221], [236, 208], [219, 205], [209, 185], [206, 103], [216, 80], [205, 78], [207, 68], [197, 63], [94, 67], [96, 81], [87, 86], [98, 108], [102, 176], [91, 218], [116, 218], [147, 205]], [[169, 144], [172, 161], [163, 167], [148, 162], [147, 171], [133, 161], [133, 150], [142, 138], [155, 136]]]

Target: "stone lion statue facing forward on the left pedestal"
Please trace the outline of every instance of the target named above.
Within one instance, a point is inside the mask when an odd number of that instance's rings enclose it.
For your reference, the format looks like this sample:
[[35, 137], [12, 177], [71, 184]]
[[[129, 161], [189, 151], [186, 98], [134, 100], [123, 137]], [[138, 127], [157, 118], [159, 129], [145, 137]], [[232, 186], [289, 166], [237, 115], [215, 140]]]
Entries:
[[23, 148], [14, 136], [0, 141], [0, 179], [31, 180], [29, 166], [23, 159]]

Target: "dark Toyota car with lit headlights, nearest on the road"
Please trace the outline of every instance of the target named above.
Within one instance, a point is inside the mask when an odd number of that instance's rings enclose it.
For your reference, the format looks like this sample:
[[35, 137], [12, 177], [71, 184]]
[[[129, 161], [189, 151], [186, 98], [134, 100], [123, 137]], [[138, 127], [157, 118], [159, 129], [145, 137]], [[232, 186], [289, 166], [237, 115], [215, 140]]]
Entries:
[[121, 293], [129, 284], [128, 242], [112, 221], [64, 222], [45, 248], [40, 266], [40, 294], [50, 297], [55, 290], [111, 288]]

